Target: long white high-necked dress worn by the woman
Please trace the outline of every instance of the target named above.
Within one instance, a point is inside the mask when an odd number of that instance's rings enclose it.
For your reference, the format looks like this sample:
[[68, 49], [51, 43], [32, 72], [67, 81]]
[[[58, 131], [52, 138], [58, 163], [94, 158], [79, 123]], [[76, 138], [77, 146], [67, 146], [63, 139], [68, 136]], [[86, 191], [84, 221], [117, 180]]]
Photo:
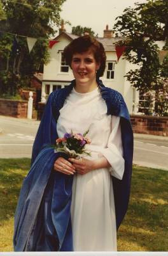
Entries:
[[106, 102], [99, 88], [92, 92], [72, 90], [57, 122], [59, 137], [66, 132], [84, 133], [89, 129], [88, 159], [106, 157], [111, 168], [74, 175], [71, 219], [74, 251], [116, 251], [116, 218], [110, 175], [122, 179], [124, 159], [120, 117], [107, 115]]

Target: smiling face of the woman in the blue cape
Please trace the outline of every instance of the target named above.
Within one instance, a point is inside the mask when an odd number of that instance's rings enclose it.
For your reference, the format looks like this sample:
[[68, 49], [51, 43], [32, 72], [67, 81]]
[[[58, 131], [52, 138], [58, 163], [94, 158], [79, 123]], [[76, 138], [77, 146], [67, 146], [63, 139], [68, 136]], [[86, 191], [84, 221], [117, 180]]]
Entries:
[[100, 65], [95, 61], [94, 54], [86, 52], [74, 53], [71, 61], [74, 78], [78, 84], [90, 84], [96, 79], [96, 71]]

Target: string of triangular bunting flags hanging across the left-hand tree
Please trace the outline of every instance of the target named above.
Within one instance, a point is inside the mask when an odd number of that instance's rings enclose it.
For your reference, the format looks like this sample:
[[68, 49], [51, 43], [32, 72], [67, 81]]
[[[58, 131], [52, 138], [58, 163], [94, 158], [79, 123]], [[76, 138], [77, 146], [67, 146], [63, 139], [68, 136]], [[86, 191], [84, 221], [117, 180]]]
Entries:
[[24, 38], [27, 39], [27, 46], [28, 46], [28, 49], [29, 49], [29, 53], [32, 51], [32, 48], [34, 47], [34, 45], [36, 44], [36, 41], [38, 39], [45, 39], [45, 40], [47, 40], [48, 41], [48, 47], [50, 49], [52, 49], [53, 45], [55, 45], [55, 44], [57, 44], [59, 42], [57, 40], [49, 40], [49, 39], [41, 38], [41, 37], [40, 38], [33, 38], [33, 37], [29, 37], [29, 36], [15, 35], [13, 33], [4, 32], [4, 31], [0, 30], [0, 35], [2, 33], [14, 36], [12, 51], [13, 51], [13, 53], [16, 53], [16, 54], [19, 54], [19, 52], [20, 52], [20, 45], [18, 43], [18, 37], [24, 37]]

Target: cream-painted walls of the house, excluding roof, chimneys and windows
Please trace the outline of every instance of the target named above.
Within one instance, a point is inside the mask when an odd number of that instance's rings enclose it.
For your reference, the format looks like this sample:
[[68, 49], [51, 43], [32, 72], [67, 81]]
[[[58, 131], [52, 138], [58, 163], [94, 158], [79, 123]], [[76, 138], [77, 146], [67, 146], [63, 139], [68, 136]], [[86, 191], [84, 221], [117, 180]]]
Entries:
[[[44, 66], [44, 74], [43, 74], [43, 83], [42, 83], [42, 93], [45, 92], [45, 84], [50, 84], [50, 93], [52, 92], [53, 84], [68, 84], [68, 81], [74, 79], [73, 72], [71, 68], [69, 68], [69, 72], [60, 72], [60, 51], [64, 50], [67, 44], [69, 44], [70, 40], [62, 35], [60, 38], [60, 42], [53, 45], [52, 49], [50, 49], [50, 62]], [[132, 95], [133, 88], [130, 86], [129, 82], [125, 79], [125, 72], [129, 71], [128, 61], [123, 60], [121, 57], [117, 62], [116, 52], [106, 52], [107, 61], [116, 61], [115, 63], [115, 74], [114, 79], [106, 78], [106, 71], [104, 72], [104, 76], [101, 77], [103, 83], [122, 93], [125, 102], [129, 108], [129, 112], [132, 113]], [[64, 83], [64, 81], [66, 83]]]

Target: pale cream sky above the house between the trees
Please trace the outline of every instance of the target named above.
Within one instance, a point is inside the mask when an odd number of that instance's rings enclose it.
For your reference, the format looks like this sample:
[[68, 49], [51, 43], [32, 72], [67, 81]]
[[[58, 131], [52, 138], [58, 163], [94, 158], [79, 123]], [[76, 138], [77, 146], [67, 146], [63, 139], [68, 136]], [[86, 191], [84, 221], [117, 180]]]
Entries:
[[146, 3], [146, 0], [66, 0], [62, 4], [60, 16], [71, 22], [66, 24], [66, 31], [71, 33], [72, 26], [83, 26], [92, 28], [95, 35], [103, 36], [103, 30], [108, 24], [113, 28], [115, 19], [122, 15], [123, 10], [134, 3]]

